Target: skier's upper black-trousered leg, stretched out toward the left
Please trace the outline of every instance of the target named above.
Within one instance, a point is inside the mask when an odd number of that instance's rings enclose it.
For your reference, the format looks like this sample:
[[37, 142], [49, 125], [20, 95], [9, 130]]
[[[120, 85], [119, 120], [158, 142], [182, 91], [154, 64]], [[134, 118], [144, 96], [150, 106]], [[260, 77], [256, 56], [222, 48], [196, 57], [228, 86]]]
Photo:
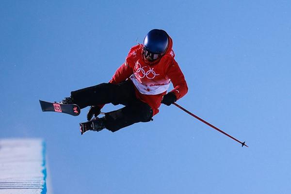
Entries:
[[72, 91], [71, 98], [73, 103], [78, 104], [81, 109], [107, 103], [128, 105], [130, 101], [135, 99], [135, 91], [131, 81], [119, 84], [101, 83]]

